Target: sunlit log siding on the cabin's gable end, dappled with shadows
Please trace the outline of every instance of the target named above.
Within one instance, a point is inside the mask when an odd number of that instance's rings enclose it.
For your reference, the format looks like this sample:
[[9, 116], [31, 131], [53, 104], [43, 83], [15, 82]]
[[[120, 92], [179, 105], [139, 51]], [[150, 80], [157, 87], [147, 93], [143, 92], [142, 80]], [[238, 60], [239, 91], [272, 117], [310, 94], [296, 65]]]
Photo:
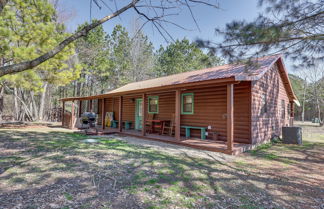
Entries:
[[[267, 113], [261, 114], [263, 94], [267, 95]], [[281, 100], [285, 101], [285, 119], [281, 119]], [[253, 144], [270, 140], [273, 136], [279, 136], [281, 127], [289, 125], [288, 102], [288, 94], [277, 64], [260, 80], [252, 82], [251, 131]]]

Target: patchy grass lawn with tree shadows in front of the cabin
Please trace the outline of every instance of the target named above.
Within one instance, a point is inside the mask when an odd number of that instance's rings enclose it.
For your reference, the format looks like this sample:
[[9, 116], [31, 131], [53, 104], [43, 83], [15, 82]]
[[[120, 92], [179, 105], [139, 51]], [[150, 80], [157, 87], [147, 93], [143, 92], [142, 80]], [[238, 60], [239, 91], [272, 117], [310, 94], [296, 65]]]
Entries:
[[[324, 129], [234, 160], [57, 128], [0, 129], [0, 208], [320, 208]], [[163, 150], [163, 149], [161, 149]]]

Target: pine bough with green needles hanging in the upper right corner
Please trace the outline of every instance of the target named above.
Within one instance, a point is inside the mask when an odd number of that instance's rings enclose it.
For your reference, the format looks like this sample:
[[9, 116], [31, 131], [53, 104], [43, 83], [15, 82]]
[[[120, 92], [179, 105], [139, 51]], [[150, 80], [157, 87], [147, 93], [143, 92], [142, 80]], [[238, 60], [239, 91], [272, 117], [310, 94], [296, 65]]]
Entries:
[[234, 62], [275, 51], [298, 60], [300, 67], [323, 60], [323, 0], [259, 1], [260, 5], [269, 5], [265, 14], [270, 15], [260, 14], [250, 22], [232, 21], [225, 29], [216, 29], [222, 41], [197, 40], [198, 45]]

